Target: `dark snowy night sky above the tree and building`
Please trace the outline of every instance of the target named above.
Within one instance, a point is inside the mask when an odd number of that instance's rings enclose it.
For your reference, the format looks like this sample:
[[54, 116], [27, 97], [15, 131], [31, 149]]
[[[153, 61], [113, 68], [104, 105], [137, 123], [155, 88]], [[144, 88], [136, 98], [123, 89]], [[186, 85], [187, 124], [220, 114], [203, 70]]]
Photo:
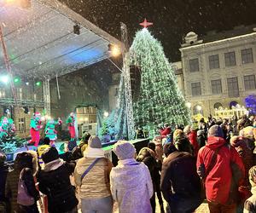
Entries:
[[154, 22], [150, 31], [163, 44], [170, 61], [180, 60], [178, 48], [190, 31], [230, 30], [256, 24], [256, 0], [61, 0], [96, 26], [120, 39], [119, 22], [128, 26], [130, 42], [139, 23]]

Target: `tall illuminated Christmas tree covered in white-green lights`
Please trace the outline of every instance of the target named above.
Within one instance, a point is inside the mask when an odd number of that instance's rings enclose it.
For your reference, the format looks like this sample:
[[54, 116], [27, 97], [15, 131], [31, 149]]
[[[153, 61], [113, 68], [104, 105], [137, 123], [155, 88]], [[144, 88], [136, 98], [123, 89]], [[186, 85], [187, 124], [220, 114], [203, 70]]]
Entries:
[[131, 65], [141, 71], [140, 95], [134, 101], [135, 124], [149, 129], [160, 123], [189, 124], [189, 108], [172, 66], [146, 27], [137, 32], [131, 45]]

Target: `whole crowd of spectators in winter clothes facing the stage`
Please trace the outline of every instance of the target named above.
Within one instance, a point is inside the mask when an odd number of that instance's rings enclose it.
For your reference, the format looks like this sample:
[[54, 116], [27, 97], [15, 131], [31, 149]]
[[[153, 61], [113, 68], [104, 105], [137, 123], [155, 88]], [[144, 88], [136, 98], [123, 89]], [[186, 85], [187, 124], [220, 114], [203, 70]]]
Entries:
[[161, 212], [192, 213], [207, 201], [211, 213], [256, 212], [255, 139], [253, 117], [165, 124], [141, 150], [116, 142], [113, 167], [96, 135], [61, 155], [45, 138], [12, 168], [0, 153], [0, 204], [18, 213], [111, 213], [114, 205], [151, 213], [157, 201]]

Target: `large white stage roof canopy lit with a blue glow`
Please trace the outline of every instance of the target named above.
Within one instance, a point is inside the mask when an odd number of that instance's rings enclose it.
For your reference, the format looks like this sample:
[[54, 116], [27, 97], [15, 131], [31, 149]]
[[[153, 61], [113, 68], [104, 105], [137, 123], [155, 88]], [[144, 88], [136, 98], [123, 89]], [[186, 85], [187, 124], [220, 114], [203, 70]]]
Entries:
[[[31, 0], [31, 7], [2, 5], [0, 21], [14, 75], [55, 78], [109, 57], [108, 44], [122, 47], [102, 31], [57, 0]], [[73, 26], [80, 26], [80, 34]], [[6, 72], [0, 49], [0, 73]]]

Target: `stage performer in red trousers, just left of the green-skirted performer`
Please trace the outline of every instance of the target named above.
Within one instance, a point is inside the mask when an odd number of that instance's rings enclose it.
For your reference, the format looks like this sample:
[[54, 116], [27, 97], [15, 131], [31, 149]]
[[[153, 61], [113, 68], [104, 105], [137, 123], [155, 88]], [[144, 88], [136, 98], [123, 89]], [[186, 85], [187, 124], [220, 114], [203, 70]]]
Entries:
[[39, 112], [35, 112], [34, 116], [30, 120], [30, 135], [31, 141], [29, 143], [34, 143], [35, 147], [38, 147], [38, 143], [40, 141], [40, 133], [39, 130], [43, 128], [41, 124], [41, 114]]

